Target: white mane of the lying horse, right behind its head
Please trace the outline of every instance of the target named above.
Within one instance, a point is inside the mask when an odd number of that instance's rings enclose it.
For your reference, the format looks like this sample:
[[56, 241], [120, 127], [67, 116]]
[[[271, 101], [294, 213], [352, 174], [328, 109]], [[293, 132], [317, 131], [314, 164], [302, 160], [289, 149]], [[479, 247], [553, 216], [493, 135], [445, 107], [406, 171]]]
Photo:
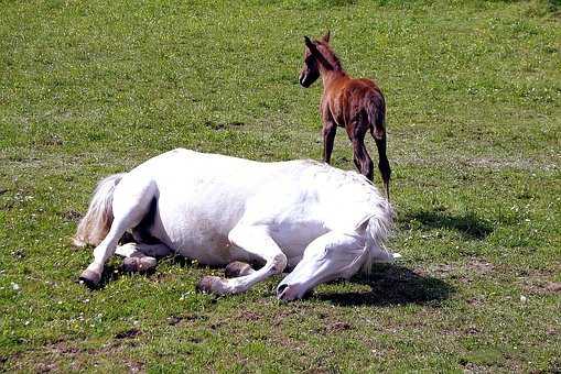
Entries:
[[363, 265], [366, 274], [370, 273], [374, 263], [388, 263], [401, 257], [399, 253], [388, 251], [385, 245], [393, 226], [393, 208], [387, 200], [380, 200], [377, 208], [366, 226], [366, 260]]

